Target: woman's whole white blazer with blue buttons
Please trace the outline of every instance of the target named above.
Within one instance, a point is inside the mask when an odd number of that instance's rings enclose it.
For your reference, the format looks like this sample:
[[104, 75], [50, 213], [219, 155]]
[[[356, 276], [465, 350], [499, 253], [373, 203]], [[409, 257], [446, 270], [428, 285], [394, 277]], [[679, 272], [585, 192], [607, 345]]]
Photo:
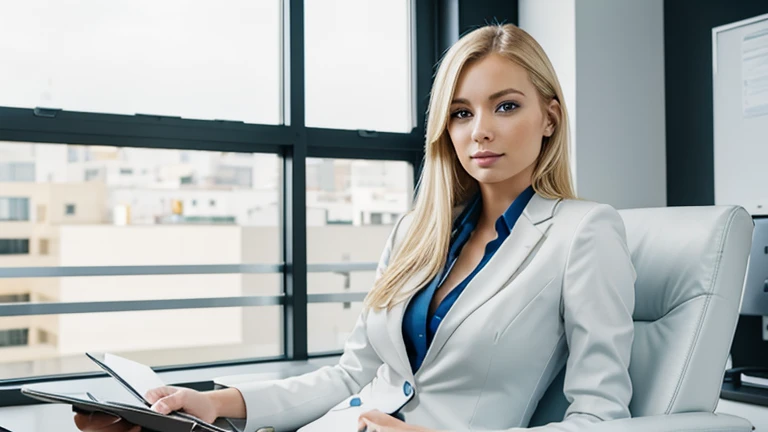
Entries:
[[[408, 215], [395, 226], [379, 274], [411, 222]], [[536, 430], [629, 417], [635, 276], [616, 210], [536, 194], [444, 318], [416, 374], [403, 343], [407, 303], [364, 311], [338, 365], [235, 386], [245, 431], [310, 424], [303, 430], [356, 432], [371, 409], [399, 410], [432, 429], [516, 431], [563, 366], [566, 416]]]

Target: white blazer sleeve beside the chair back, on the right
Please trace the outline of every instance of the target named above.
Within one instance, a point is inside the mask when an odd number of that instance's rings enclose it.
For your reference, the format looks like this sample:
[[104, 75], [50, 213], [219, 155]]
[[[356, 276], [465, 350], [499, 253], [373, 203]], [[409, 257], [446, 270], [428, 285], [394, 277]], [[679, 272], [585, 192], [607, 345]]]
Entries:
[[585, 431], [595, 422], [630, 417], [635, 279], [621, 216], [597, 205], [576, 229], [563, 277], [569, 350], [563, 391], [570, 405], [563, 421], [526, 430]]

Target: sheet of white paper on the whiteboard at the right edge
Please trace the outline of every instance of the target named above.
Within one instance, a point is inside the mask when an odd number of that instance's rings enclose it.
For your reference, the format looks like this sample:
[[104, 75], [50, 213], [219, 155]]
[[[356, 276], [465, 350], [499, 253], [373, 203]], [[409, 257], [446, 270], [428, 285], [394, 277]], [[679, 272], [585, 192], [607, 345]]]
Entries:
[[741, 78], [744, 117], [768, 115], [768, 29], [744, 35]]

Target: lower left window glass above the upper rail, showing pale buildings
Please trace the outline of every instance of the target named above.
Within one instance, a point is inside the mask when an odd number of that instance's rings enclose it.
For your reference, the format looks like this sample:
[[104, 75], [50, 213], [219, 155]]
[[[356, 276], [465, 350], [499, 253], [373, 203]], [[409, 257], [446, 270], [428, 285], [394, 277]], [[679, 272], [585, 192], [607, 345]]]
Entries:
[[0, 191], [29, 214], [0, 220], [0, 239], [29, 247], [0, 255], [2, 267], [282, 260], [276, 155], [0, 143], [0, 165], [20, 163], [34, 178]]

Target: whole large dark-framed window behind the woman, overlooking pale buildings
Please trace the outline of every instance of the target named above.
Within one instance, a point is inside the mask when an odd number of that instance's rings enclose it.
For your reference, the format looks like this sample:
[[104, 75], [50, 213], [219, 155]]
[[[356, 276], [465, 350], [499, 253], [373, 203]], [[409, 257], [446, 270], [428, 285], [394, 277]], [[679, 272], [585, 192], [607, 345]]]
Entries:
[[0, 294], [29, 293], [0, 303], [26, 344], [0, 351], [0, 386], [93, 371], [90, 350], [183, 368], [339, 349], [412, 199], [429, 2], [59, 3], [0, 1], [0, 197], [35, 206], [0, 221]]

